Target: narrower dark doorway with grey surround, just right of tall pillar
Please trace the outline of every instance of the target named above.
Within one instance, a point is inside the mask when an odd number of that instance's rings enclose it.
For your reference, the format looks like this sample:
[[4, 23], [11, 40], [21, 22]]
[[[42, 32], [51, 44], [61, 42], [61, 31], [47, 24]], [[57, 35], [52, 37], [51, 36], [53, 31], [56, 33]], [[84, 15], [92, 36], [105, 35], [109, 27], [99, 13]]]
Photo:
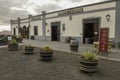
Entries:
[[51, 40], [60, 41], [60, 22], [51, 23]]

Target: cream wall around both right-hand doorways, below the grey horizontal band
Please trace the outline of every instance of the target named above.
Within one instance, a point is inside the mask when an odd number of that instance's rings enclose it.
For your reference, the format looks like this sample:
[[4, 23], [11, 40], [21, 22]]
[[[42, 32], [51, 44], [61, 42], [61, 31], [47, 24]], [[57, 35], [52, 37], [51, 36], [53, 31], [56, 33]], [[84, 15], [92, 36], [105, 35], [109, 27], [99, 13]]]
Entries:
[[[111, 15], [110, 22], [107, 22], [106, 15]], [[73, 15], [72, 20], [69, 20], [69, 16], [66, 17], [60, 17], [60, 18], [52, 18], [47, 19], [46, 22], [48, 23], [46, 27], [46, 33], [50, 36], [51, 32], [47, 32], [47, 30], [51, 31], [51, 22], [60, 21], [61, 22], [61, 34], [62, 36], [80, 36], [82, 37], [82, 28], [83, 28], [83, 19], [87, 18], [101, 18], [100, 21], [100, 27], [109, 27], [110, 37], [114, 37], [114, 31], [115, 31], [115, 10], [110, 11], [103, 11], [103, 12], [96, 12], [96, 13], [87, 13], [87, 14], [81, 14], [81, 15]], [[62, 24], [65, 24], [65, 31], [62, 31]]]

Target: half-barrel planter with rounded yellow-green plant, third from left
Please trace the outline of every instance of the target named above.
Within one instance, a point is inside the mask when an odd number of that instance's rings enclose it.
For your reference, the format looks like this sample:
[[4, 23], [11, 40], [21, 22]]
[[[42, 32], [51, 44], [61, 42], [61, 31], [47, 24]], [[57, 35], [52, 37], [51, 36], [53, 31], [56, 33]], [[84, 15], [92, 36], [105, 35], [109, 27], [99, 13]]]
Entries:
[[42, 59], [51, 59], [53, 56], [53, 50], [49, 48], [49, 46], [44, 46], [43, 48], [40, 48], [40, 57]]

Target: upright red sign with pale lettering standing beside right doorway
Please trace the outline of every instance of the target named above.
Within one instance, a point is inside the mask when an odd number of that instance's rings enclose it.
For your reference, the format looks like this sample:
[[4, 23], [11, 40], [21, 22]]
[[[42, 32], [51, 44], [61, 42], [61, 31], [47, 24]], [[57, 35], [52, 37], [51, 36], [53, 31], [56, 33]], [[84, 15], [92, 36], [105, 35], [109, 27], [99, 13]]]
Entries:
[[109, 36], [109, 28], [101, 28], [99, 52], [104, 52], [104, 53], [108, 52], [108, 36]]

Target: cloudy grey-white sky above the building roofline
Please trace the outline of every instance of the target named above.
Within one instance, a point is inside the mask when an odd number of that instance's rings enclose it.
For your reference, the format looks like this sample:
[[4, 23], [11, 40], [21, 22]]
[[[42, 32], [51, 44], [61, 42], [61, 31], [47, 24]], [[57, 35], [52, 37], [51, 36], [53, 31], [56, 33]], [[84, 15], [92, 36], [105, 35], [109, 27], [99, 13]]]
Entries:
[[57, 11], [86, 4], [109, 0], [0, 0], [0, 31], [10, 30], [10, 20], [28, 15], [38, 15], [41, 11]]

